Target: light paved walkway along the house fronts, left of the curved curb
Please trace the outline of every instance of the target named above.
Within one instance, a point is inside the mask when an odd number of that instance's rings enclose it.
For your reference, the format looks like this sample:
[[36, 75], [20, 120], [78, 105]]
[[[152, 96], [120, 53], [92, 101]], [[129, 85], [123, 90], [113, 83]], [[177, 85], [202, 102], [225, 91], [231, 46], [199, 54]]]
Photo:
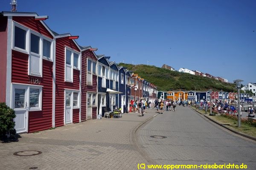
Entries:
[[[94, 119], [21, 134], [19, 142], [0, 143], [0, 170], [134, 170], [137, 163], [147, 161], [134, 147], [131, 132], [155, 115], [155, 110], [147, 112], [143, 117], [125, 113], [118, 119]], [[13, 155], [24, 150], [42, 153]]]

